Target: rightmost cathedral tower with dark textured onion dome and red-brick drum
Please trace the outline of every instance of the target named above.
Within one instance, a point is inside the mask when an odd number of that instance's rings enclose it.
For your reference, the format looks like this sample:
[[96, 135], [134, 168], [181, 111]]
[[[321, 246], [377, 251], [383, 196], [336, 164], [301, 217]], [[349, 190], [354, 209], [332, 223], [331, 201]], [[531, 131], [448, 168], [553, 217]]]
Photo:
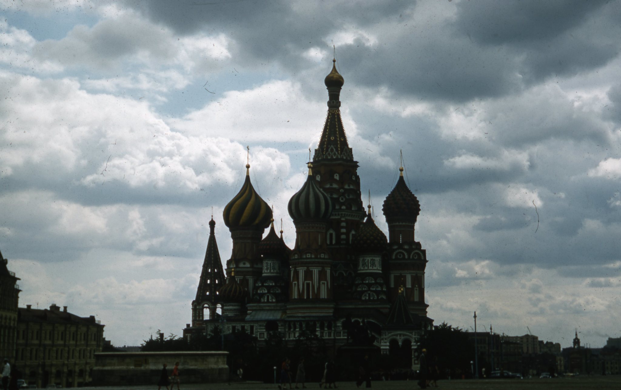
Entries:
[[425, 267], [427, 254], [414, 239], [414, 225], [420, 213], [420, 203], [407, 188], [403, 167], [399, 180], [384, 200], [384, 216], [388, 223], [389, 291], [394, 301], [403, 287], [402, 294], [410, 312], [427, 315], [425, 304]]

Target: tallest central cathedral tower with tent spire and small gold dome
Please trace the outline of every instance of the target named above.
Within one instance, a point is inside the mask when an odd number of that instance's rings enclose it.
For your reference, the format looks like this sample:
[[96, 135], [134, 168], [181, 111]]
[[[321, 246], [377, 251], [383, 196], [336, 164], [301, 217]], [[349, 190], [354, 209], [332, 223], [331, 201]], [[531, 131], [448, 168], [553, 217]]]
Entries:
[[332, 72], [324, 83], [329, 96], [328, 114], [312, 165], [319, 187], [332, 203], [326, 241], [333, 261], [334, 293], [346, 297], [351, 293], [347, 286], [351, 286], [356, 269], [351, 243], [366, 213], [360, 196], [358, 161], [353, 159], [341, 119], [339, 98], [345, 80], [337, 72], [336, 60], [332, 60]]

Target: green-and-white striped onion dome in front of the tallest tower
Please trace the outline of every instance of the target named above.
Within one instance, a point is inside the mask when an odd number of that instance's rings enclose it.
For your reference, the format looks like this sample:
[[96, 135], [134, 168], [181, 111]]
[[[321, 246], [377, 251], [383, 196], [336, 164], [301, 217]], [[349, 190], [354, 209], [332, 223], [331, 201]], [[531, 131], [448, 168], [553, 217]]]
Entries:
[[330, 197], [312, 177], [312, 164], [309, 163], [309, 175], [306, 183], [289, 200], [289, 215], [293, 221], [327, 220], [332, 214]]

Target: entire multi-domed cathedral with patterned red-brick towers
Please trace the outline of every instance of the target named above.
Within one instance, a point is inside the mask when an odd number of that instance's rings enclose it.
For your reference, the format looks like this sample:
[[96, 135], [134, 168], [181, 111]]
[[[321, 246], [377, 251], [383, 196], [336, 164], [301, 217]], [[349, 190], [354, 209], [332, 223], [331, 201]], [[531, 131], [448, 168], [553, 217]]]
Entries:
[[[247, 332], [284, 340], [310, 330], [335, 347], [363, 329], [381, 353], [414, 351], [420, 334], [432, 327], [425, 304], [425, 249], [415, 240], [419, 201], [399, 168], [399, 179], [383, 204], [388, 238], [361, 198], [358, 162], [348, 146], [340, 114], [343, 77], [333, 61], [325, 77], [328, 112], [308, 164], [302, 188], [289, 200], [296, 243], [288, 248], [274, 229], [272, 210], [250, 182], [250, 165], [223, 220], [233, 241], [223, 269], [209, 221], [209, 241], [184, 330]], [[268, 233], [263, 236], [265, 230]], [[221, 313], [221, 315], [220, 315]], [[415, 354], [412, 354], [415, 356]], [[415, 362], [415, 359], [412, 360]]]

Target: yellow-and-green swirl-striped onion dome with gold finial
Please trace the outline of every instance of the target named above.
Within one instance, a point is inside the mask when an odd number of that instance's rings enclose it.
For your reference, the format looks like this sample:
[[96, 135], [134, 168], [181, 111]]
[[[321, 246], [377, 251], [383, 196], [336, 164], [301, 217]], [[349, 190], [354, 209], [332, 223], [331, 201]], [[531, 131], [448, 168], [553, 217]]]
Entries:
[[270, 206], [261, 199], [250, 183], [250, 164], [246, 164], [246, 180], [242, 189], [222, 212], [224, 224], [229, 229], [253, 227], [265, 229], [270, 225], [271, 217]]

